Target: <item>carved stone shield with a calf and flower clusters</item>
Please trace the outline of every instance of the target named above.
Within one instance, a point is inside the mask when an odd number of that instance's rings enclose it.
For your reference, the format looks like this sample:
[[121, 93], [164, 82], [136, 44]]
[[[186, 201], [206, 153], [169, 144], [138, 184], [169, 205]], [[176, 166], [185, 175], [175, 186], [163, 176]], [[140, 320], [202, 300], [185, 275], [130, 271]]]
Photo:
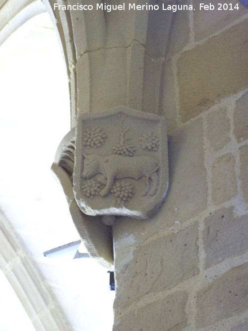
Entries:
[[148, 218], [168, 190], [164, 117], [118, 106], [81, 114], [74, 195], [88, 215]]

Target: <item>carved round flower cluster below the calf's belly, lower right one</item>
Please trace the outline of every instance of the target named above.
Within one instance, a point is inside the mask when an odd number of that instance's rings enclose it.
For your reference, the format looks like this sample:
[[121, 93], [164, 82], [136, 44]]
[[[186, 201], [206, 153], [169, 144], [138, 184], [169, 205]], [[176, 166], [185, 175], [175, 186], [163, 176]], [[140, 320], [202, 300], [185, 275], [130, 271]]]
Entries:
[[134, 194], [134, 188], [131, 185], [130, 182], [116, 182], [111, 191], [110, 191], [114, 196], [114, 204], [116, 205], [123, 205], [124, 202], [130, 201]]

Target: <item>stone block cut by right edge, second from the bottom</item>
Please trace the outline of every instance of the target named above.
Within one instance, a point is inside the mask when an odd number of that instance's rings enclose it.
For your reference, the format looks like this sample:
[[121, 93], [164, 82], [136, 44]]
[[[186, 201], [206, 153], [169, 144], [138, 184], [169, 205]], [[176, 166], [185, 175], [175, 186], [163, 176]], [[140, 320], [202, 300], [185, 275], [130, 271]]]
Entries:
[[197, 294], [196, 327], [204, 328], [248, 309], [248, 263], [234, 267]]

